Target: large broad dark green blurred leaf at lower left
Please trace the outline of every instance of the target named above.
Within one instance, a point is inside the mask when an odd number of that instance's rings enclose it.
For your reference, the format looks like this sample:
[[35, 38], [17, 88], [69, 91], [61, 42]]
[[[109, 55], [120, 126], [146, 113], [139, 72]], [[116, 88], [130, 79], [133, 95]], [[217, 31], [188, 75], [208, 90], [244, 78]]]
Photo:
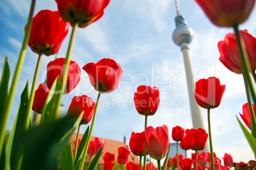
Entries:
[[71, 120], [66, 116], [29, 129], [22, 138], [24, 145], [22, 169], [57, 169], [57, 159], [82, 116]]

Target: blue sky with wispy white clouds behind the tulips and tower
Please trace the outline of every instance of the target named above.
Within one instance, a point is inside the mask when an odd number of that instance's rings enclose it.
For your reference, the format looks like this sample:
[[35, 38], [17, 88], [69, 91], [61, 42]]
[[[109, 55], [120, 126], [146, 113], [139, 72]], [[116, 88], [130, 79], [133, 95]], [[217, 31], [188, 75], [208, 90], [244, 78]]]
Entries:
[[[4, 56], [8, 55], [13, 76], [30, 3], [28, 0], [1, 1], [0, 73], [3, 70]], [[236, 120], [236, 115], [242, 112], [242, 106], [246, 103], [243, 77], [230, 72], [218, 60], [220, 54], [217, 43], [233, 30], [213, 25], [192, 0], [180, 0], [178, 3], [180, 13], [185, 15], [188, 26], [194, 30], [194, 39], [190, 44], [194, 79], [216, 76], [226, 85], [222, 103], [218, 108], [211, 110], [213, 149], [218, 157], [224, 157], [224, 154], [228, 153], [232, 154], [234, 161], [248, 162], [254, 159], [253, 152]], [[36, 1], [34, 15], [46, 9], [57, 10], [57, 4], [53, 0]], [[129, 141], [133, 131], [137, 133], [144, 130], [145, 118], [137, 113], [132, 102], [140, 85], [157, 86], [161, 91], [162, 104], [155, 115], [148, 117], [148, 126], [155, 128], [167, 124], [170, 137], [174, 126], [192, 128], [183, 57], [180, 47], [172, 40], [175, 16], [174, 0], [112, 0], [100, 20], [85, 29], [78, 29], [71, 60], [82, 68], [89, 62], [113, 58], [124, 70], [118, 88], [112, 93], [101, 95], [92, 135], [118, 141], [122, 141], [126, 136]], [[256, 35], [256, 22], [253, 21], [255, 16], [254, 8], [250, 18], [240, 29], [248, 29]], [[60, 48], [60, 57], [66, 56], [71, 29], [69, 27], [69, 34]], [[45, 81], [46, 65], [54, 57], [43, 56], [37, 87]], [[20, 94], [27, 79], [31, 85], [37, 58], [38, 55], [27, 47], [8, 129], [12, 127]], [[75, 95], [88, 95], [93, 100], [97, 98], [97, 92], [90, 85], [84, 70], [78, 86], [62, 98], [63, 114], [68, 110]], [[202, 109], [202, 114], [206, 126], [205, 109]], [[82, 133], [86, 128], [87, 126], [82, 126]]]

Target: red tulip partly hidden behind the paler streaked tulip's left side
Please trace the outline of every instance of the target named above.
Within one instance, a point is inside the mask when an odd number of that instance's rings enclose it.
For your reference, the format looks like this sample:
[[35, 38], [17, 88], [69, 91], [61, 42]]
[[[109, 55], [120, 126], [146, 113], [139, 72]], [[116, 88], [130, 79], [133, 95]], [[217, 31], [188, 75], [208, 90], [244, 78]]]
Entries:
[[144, 137], [145, 137], [144, 131], [142, 133], [132, 132], [132, 136], [129, 142], [129, 146], [132, 154], [136, 156], [144, 155]]

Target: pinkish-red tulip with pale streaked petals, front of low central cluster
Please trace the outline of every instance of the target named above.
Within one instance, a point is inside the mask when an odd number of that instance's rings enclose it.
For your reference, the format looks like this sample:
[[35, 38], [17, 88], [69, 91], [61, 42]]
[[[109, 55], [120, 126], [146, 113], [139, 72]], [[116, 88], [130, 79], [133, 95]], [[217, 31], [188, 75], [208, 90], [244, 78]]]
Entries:
[[166, 124], [162, 127], [149, 126], [145, 132], [146, 151], [153, 159], [164, 158], [169, 148], [169, 131]]

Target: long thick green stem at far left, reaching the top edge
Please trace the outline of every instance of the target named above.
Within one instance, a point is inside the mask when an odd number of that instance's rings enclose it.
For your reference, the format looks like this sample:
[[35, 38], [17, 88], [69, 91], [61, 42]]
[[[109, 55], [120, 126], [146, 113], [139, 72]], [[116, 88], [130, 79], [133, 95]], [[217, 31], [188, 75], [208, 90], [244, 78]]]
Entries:
[[[24, 58], [25, 58], [25, 53], [26, 53], [26, 47], [27, 47], [27, 42], [29, 41], [29, 34], [31, 31], [31, 25], [32, 25], [32, 16], [34, 13], [34, 5], [36, 3], [36, 0], [32, 0], [31, 1], [31, 8], [29, 11], [29, 18], [27, 20], [27, 29], [25, 30], [25, 36], [22, 42], [22, 49], [20, 50], [20, 56], [18, 58], [18, 63], [16, 66], [16, 70], [15, 73], [13, 75], [13, 81], [11, 82], [11, 89], [10, 89], [10, 93], [8, 96], [8, 99], [6, 101], [7, 105], [6, 107], [4, 107], [4, 117], [3, 119], [0, 120], [0, 159], [1, 159], [1, 153], [2, 153], [2, 149], [3, 149], [3, 144], [4, 144], [4, 136], [6, 133], [6, 126], [8, 123], [8, 119], [9, 119], [9, 115], [11, 112], [11, 105], [13, 103], [13, 98], [15, 96], [15, 91], [17, 88], [17, 84], [18, 84], [18, 78], [20, 77], [20, 72], [22, 70], [22, 65], [24, 62]], [[2, 108], [3, 109], [3, 108]]]

